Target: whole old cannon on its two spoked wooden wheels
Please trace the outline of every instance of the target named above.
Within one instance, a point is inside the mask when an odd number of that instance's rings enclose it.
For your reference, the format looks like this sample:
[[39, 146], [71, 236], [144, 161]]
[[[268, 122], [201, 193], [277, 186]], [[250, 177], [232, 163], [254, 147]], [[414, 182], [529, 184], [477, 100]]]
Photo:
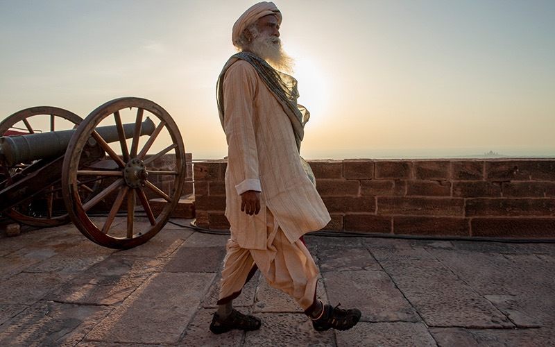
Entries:
[[[71, 220], [96, 244], [131, 248], [156, 235], [179, 202], [185, 146], [153, 101], [114, 99], [85, 119], [28, 108], [1, 121], [0, 135], [0, 212], [20, 223]], [[151, 207], [153, 198], [162, 208]], [[126, 223], [114, 223], [121, 215]]]

